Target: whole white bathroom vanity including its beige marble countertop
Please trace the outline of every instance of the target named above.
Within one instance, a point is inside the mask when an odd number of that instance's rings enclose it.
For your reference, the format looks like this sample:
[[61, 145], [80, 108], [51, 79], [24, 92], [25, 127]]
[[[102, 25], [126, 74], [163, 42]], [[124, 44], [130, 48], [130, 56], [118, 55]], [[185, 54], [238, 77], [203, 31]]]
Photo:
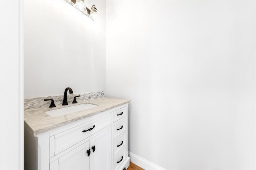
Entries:
[[[103, 97], [68, 106], [25, 110], [25, 169], [127, 169], [130, 162], [127, 145], [129, 102]], [[81, 104], [95, 107], [56, 117], [46, 114]]]

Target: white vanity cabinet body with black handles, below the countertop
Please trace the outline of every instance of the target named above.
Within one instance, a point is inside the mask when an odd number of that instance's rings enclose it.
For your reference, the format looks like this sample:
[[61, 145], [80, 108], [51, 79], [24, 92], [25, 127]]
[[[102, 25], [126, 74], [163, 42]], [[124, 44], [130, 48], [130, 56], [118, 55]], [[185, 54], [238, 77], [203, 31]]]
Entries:
[[36, 137], [25, 126], [25, 169], [127, 169], [127, 109], [124, 104]]

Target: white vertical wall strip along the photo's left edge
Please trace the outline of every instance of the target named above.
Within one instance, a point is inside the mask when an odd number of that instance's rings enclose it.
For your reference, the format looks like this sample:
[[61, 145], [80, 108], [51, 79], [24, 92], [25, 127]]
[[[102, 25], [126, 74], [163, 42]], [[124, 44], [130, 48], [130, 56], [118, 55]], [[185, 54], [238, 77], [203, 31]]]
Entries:
[[0, 170], [23, 170], [23, 2], [0, 0]]

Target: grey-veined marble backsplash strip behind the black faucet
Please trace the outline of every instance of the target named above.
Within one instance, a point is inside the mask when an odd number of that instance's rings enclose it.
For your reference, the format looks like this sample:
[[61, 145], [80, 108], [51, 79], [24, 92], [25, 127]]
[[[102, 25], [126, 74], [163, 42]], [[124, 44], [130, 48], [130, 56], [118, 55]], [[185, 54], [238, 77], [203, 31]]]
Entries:
[[[103, 98], [104, 92], [86, 92], [86, 93], [74, 93], [68, 94], [68, 104], [72, 104], [74, 96], [81, 96], [76, 98], [77, 102], [88, 100], [88, 99], [96, 99], [96, 98]], [[24, 110], [27, 109], [38, 109], [42, 107], [49, 107], [50, 101], [44, 101], [44, 99], [53, 99], [55, 105], [61, 105], [63, 102], [63, 95], [58, 96], [45, 96], [45, 97], [38, 97], [38, 98], [25, 98], [24, 99]]]

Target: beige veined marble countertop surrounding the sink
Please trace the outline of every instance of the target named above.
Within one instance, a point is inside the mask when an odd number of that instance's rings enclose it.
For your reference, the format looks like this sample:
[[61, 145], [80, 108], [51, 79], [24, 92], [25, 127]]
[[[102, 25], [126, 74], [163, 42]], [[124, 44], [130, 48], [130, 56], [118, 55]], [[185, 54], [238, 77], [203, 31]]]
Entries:
[[[83, 102], [78, 102], [77, 104], [69, 104], [66, 106], [58, 105], [53, 108], [46, 107], [39, 109], [28, 109], [24, 111], [24, 123], [27, 125], [31, 133], [36, 136], [40, 133], [44, 133], [56, 127], [60, 127], [62, 125], [66, 125], [67, 123], [84, 119], [91, 115], [95, 115], [96, 113], [100, 113], [114, 107], [127, 104], [129, 102], [130, 100], [103, 97], [84, 100]], [[63, 107], [69, 107], [79, 104], [94, 104], [97, 106], [58, 117], [51, 117], [50, 115], [44, 113], [44, 111], [60, 109]]]

